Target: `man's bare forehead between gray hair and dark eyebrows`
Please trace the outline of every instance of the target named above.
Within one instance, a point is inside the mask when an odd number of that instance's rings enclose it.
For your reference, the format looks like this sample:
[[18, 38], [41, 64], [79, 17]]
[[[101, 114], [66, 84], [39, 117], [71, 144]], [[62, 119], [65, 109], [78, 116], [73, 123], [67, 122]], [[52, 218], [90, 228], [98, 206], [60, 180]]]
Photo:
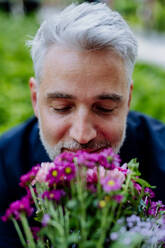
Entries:
[[100, 91], [100, 87], [102, 91], [107, 87], [121, 89], [127, 85], [124, 61], [110, 50], [80, 51], [52, 46], [45, 57], [41, 84], [46, 91], [63, 87], [93, 93]]

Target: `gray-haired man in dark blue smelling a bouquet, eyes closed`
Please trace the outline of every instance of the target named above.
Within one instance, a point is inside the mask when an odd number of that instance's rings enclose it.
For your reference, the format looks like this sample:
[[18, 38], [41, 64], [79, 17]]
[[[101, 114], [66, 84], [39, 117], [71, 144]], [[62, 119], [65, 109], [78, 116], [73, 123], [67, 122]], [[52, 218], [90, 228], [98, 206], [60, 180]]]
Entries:
[[[19, 178], [63, 151], [112, 147], [123, 163], [137, 157], [164, 199], [165, 126], [129, 112], [137, 44], [122, 17], [104, 4], [71, 5], [45, 21], [33, 41], [34, 113], [0, 140], [1, 214], [22, 192]], [[128, 115], [128, 117], [127, 117]], [[0, 247], [19, 247], [1, 223]]]

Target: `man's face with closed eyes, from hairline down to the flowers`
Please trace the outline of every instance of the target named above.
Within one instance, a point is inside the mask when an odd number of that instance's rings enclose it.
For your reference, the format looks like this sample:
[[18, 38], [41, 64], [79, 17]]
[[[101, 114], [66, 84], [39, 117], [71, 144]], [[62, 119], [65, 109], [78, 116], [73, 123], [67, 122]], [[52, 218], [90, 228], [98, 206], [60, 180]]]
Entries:
[[53, 46], [41, 84], [30, 82], [41, 140], [53, 159], [62, 151], [119, 151], [131, 90], [123, 60], [113, 51], [77, 51]]

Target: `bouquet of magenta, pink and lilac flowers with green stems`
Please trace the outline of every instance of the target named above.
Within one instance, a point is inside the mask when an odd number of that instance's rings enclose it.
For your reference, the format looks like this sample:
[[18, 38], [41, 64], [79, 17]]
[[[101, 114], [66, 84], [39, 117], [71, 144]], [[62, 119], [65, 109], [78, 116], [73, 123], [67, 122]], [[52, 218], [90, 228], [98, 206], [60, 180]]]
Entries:
[[26, 196], [10, 204], [23, 247], [165, 247], [165, 206], [153, 201], [135, 159], [111, 148], [64, 152], [20, 179]]

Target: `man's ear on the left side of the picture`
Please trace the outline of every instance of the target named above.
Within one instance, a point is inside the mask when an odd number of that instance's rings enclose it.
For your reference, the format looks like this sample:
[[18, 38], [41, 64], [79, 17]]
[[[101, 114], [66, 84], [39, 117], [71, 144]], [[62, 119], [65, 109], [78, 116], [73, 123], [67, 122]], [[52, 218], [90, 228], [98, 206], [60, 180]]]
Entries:
[[36, 117], [38, 117], [38, 104], [37, 104], [37, 82], [36, 80], [32, 77], [29, 80], [29, 87], [30, 87], [30, 92], [31, 92], [31, 101], [32, 101], [32, 106], [34, 110], [34, 114]]

